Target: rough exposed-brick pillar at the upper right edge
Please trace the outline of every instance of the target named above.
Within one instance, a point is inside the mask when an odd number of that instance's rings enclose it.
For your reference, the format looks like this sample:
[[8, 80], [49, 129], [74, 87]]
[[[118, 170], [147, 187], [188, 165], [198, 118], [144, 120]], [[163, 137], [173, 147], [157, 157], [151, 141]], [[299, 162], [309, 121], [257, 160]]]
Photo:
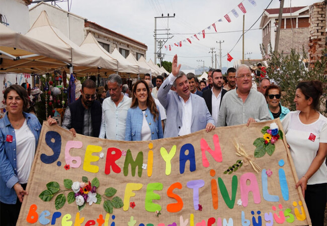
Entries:
[[[326, 8], [327, 1], [315, 3], [309, 8], [310, 26], [309, 26], [309, 57], [310, 67], [314, 65], [317, 60], [320, 60], [324, 54], [323, 50], [326, 48]], [[327, 73], [327, 69], [326, 69]]]

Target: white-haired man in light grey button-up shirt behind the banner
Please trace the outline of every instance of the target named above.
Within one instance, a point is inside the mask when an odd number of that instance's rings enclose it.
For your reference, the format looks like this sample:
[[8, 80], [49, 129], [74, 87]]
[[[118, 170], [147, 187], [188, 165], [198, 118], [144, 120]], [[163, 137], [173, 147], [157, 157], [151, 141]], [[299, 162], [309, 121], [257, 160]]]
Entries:
[[234, 126], [271, 120], [266, 99], [252, 87], [249, 66], [241, 64], [236, 70], [236, 89], [228, 91], [222, 98], [218, 127]]

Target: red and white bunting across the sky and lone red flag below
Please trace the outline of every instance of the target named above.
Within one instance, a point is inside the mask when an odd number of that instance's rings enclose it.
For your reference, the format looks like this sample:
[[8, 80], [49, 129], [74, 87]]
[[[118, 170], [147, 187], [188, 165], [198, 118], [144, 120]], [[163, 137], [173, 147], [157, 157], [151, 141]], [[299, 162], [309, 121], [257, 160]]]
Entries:
[[[237, 18], [238, 16], [239, 16], [239, 14], [237, 13], [237, 11], [236, 11], [236, 9], [238, 8], [243, 14], [246, 14], [247, 13], [247, 10], [246, 10], [246, 8], [244, 7], [244, 5], [243, 5], [243, 2], [245, 2], [246, 0], [242, 0], [238, 5], [237, 5], [237, 7], [234, 7], [231, 11], [229, 11], [227, 14], [225, 14], [225, 16], [223, 16], [225, 19], [226, 19], [226, 21], [228, 22], [228, 23], [231, 23], [232, 22], [232, 20], [231, 20], [231, 18], [230, 18], [230, 16], [229, 16], [229, 14], [231, 13], [235, 18]], [[255, 0], [248, 0], [249, 1], [249, 3], [252, 5], [252, 6], [257, 6], [257, 3], [256, 3], [256, 1]], [[217, 28], [216, 28], [216, 23], [217, 22], [223, 22], [223, 20], [222, 20], [222, 18], [219, 18], [216, 22], [214, 22], [214, 23], [212, 23], [210, 26], [208, 26], [207, 28], [205, 28], [205, 29], [208, 29], [208, 30], [211, 30], [211, 26], [214, 28], [214, 30], [215, 30], [215, 32], [217, 32]], [[186, 40], [190, 43], [190, 44], [192, 44], [192, 41], [191, 41], [191, 38], [192, 39], [197, 39], [198, 41], [200, 41], [200, 39], [198, 38], [198, 35], [199, 36], [201, 36], [201, 33], [202, 33], [202, 37], [203, 37], [203, 39], [205, 39], [205, 29], [203, 29], [202, 30], [202, 32], [199, 32], [199, 33], [197, 33], [197, 34], [194, 34], [194, 35], [192, 35], [190, 38], [186, 38], [186, 39], [184, 39], [183, 40], [183, 42], [185, 42], [185, 43], [187, 43], [186, 42]], [[176, 48], [176, 47], [182, 47], [182, 41], [179, 41], [179, 42], [176, 42], [176, 43], [173, 43], [173, 44], [171, 44], [171, 45], [167, 45], [167, 46], [165, 46], [165, 49], [168, 51], [172, 51], [172, 48], [174, 47], [174, 48]], [[228, 56], [231, 58], [231, 60], [233, 59], [229, 54], [228, 54]]]

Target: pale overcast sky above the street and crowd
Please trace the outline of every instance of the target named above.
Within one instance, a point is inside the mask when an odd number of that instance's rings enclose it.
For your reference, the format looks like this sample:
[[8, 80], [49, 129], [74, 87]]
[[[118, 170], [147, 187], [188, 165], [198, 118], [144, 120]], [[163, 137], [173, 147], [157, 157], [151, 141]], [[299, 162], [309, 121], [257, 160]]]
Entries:
[[[203, 60], [205, 66], [211, 66], [211, 50], [215, 48], [216, 54], [219, 54], [219, 44], [216, 41], [224, 41], [221, 44], [222, 66], [232, 66], [232, 62], [227, 65], [227, 52], [234, 59], [242, 58], [242, 39], [236, 44], [241, 36], [242, 15], [237, 5], [242, 2], [247, 13], [245, 14], [245, 30], [248, 30], [255, 22], [252, 30], [244, 36], [244, 53], [251, 53], [251, 59], [261, 59], [259, 44], [262, 42], [262, 32], [259, 30], [261, 14], [268, 7], [279, 8], [278, 0], [254, 0], [257, 6], [250, 4], [249, 0], [69, 0], [71, 4], [71, 13], [87, 18], [115, 32], [126, 35], [147, 45], [146, 60], [154, 61], [154, 17], [167, 16], [169, 13], [175, 18], [169, 19], [170, 33], [174, 36], [166, 44], [174, 45], [182, 41], [182, 47], [173, 47], [172, 51], [166, 51], [166, 61], [172, 61], [174, 54], [178, 55], [178, 61], [182, 65], [190, 67], [202, 66]], [[285, 0], [284, 8], [295, 6], [308, 6], [320, 0]], [[67, 3], [58, 4], [62, 9], [67, 10]], [[235, 18], [231, 10], [235, 9], [238, 17]], [[228, 23], [224, 15], [228, 14], [231, 23]], [[222, 19], [222, 22], [216, 23], [217, 33], [211, 26], [214, 22]], [[167, 19], [157, 19], [157, 29], [167, 29]], [[205, 29], [205, 39], [202, 38], [202, 30]], [[158, 31], [163, 33], [165, 31]], [[197, 33], [200, 41], [192, 39], [191, 36]], [[212, 34], [209, 34], [212, 33]], [[158, 36], [159, 37], [159, 36]], [[163, 38], [163, 36], [161, 36]], [[167, 37], [167, 36], [166, 36]], [[192, 44], [183, 42], [190, 38]], [[233, 46], [236, 46], [233, 48]], [[233, 48], [233, 50], [232, 50]], [[215, 54], [215, 53], [214, 53]], [[217, 61], [219, 58], [217, 56]], [[157, 61], [158, 63], [158, 61]], [[213, 64], [215, 67], [215, 63]], [[218, 66], [217, 66], [218, 67]]]

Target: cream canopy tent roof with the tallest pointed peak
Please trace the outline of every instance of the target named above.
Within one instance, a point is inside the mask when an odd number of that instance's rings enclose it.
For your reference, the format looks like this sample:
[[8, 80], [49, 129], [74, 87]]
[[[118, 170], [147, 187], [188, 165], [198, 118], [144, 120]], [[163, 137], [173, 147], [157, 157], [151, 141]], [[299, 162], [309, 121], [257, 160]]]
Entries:
[[[42, 11], [38, 19], [34, 22], [26, 36], [35, 38], [42, 42], [51, 43], [54, 47], [70, 50], [70, 63], [74, 70], [79, 73], [99, 73], [117, 71], [118, 62], [114, 59], [96, 56], [91, 52], [84, 52], [75, 43], [63, 35], [59, 29], [54, 27], [48, 19], [47, 13]], [[53, 49], [52, 51], [56, 51]], [[67, 53], [60, 53], [67, 54]], [[68, 54], [68, 55], [69, 55]]]

